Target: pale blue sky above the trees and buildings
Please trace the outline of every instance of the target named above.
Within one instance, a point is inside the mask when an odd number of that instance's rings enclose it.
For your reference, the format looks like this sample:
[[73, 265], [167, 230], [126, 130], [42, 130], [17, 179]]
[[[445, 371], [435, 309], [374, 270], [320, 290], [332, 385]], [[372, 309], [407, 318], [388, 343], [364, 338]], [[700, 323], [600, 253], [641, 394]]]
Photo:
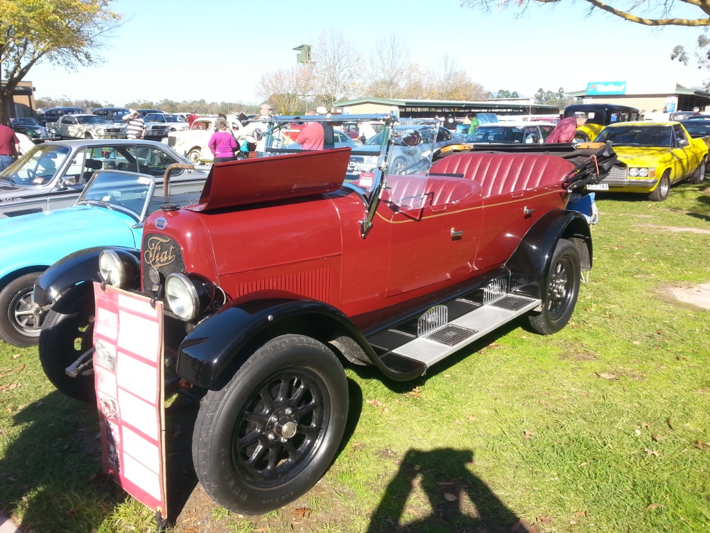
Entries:
[[116, 105], [163, 98], [256, 102], [258, 78], [295, 65], [292, 49], [315, 43], [330, 27], [365, 57], [378, 39], [397, 33], [418, 63], [433, 67], [447, 53], [493, 92], [532, 96], [539, 87], [571, 91], [601, 81], [691, 87], [710, 77], [670, 60], [674, 45], [692, 48], [700, 30], [652, 29], [601, 11], [587, 16], [582, 4], [536, 5], [516, 17], [511, 10], [461, 8], [458, 0], [116, 0], [124, 25], [101, 50], [102, 65], [76, 72], [38, 65], [27, 79], [37, 97]]

